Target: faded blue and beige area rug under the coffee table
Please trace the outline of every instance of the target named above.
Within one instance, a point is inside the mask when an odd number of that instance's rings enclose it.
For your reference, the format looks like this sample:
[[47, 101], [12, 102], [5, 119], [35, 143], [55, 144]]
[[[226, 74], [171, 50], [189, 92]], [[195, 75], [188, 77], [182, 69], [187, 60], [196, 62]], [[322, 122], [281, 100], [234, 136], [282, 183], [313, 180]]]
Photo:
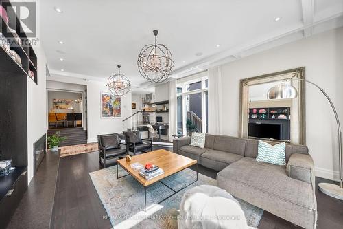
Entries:
[[[144, 207], [143, 186], [130, 175], [117, 179], [116, 169], [112, 166], [89, 173], [113, 228], [178, 228], [178, 209], [183, 194], [193, 186], [201, 184], [216, 186], [217, 184], [215, 179], [199, 173], [198, 182], [169, 197], [161, 204], [153, 204], [172, 194], [169, 188], [158, 182], [147, 188], [147, 206], [149, 207], [144, 212], [141, 210]], [[126, 172], [119, 166], [119, 176], [125, 174]], [[166, 177], [163, 182], [174, 187], [174, 190], [180, 190], [195, 178], [195, 171], [187, 168]], [[246, 215], [248, 225], [256, 228], [263, 210], [241, 199], [237, 200]]]

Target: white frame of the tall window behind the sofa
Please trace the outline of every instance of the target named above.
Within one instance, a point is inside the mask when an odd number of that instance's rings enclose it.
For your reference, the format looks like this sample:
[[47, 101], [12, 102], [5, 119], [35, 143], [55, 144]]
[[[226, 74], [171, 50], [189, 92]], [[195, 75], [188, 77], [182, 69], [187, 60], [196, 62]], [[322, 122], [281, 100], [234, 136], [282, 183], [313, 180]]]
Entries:
[[[176, 93], [176, 100], [178, 96], [182, 96], [182, 133], [187, 133], [187, 96], [191, 94], [198, 94], [201, 93], [201, 101], [202, 101], [202, 133], [206, 133], [206, 122], [207, 122], [207, 116], [206, 116], [206, 101], [204, 98], [205, 91], [209, 91], [209, 88], [206, 88], [205, 80], [209, 80], [209, 76], [202, 76], [199, 78], [193, 78], [192, 80], [188, 80], [182, 83], [179, 83], [176, 85], [176, 88], [181, 87], [182, 93]], [[197, 89], [194, 91], [187, 91], [187, 85], [191, 83], [197, 83], [201, 81], [201, 89]], [[176, 91], [177, 92], [177, 91]], [[178, 111], [176, 111], [177, 113]], [[176, 122], [176, 129], [177, 129], [177, 122]]]

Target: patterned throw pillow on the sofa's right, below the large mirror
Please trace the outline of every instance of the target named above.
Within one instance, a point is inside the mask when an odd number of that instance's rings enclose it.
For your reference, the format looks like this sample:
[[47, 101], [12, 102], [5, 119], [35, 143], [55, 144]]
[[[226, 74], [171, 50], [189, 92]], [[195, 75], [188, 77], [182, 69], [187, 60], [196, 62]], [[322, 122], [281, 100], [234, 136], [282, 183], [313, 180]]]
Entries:
[[272, 146], [267, 142], [259, 140], [257, 162], [267, 162], [281, 166], [286, 165], [286, 144], [285, 142]]

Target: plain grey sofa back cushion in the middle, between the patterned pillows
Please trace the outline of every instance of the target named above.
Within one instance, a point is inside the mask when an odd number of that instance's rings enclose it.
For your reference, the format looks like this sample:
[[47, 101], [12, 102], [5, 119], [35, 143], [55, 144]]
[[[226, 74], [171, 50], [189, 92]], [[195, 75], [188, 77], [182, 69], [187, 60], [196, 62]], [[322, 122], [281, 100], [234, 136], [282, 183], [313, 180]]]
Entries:
[[246, 140], [244, 138], [217, 135], [215, 136], [213, 149], [244, 156]]

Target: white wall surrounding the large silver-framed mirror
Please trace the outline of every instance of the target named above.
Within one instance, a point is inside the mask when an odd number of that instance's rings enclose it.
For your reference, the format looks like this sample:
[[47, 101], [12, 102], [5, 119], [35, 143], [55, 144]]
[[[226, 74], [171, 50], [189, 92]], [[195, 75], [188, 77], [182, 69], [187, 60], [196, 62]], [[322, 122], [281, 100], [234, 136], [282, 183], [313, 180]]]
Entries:
[[[333, 100], [343, 121], [343, 28], [331, 30], [222, 65], [222, 133], [239, 132], [239, 80], [296, 67], [318, 83]], [[316, 175], [338, 179], [338, 140], [329, 102], [314, 86], [306, 86], [307, 146]]]

